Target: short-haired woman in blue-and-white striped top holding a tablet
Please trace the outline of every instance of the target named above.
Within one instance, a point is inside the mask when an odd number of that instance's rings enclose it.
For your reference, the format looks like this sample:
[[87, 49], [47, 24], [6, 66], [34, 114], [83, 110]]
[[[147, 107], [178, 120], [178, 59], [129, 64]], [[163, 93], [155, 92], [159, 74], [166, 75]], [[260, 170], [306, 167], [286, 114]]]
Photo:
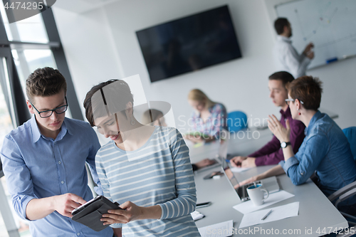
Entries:
[[103, 194], [124, 210], [103, 214], [116, 236], [200, 236], [190, 213], [197, 197], [182, 135], [137, 122], [124, 80], [95, 85], [86, 95], [90, 125], [110, 137], [95, 157]]

